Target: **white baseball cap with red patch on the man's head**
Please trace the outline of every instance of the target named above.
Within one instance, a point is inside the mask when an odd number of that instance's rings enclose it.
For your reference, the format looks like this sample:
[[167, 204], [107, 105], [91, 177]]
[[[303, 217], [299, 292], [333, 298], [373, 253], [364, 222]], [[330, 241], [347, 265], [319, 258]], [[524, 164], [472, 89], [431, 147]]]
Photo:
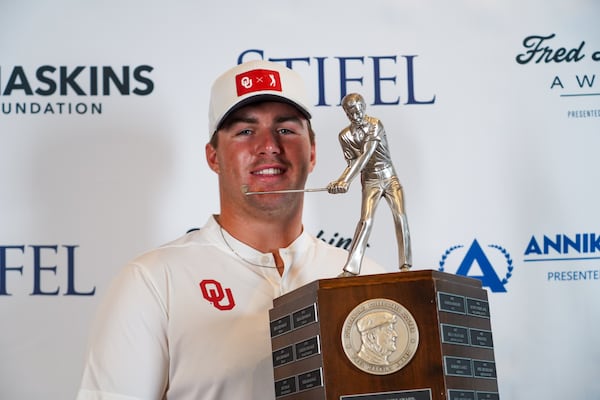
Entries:
[[256, 101], [281, 101], [311, 118], [302, 77], [281, 63], [248, 61], [219, 76], [210, 91], [209, 138], [233, 111]]

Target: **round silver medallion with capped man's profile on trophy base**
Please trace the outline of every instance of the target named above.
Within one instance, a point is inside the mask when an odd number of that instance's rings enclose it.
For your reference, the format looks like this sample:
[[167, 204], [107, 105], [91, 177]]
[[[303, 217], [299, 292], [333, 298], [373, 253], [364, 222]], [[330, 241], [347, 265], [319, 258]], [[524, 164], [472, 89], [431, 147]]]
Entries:
[[413, 358], [419, 329], [411, 313], [388, 299], [360, 303], [346, 317], [342, 347], [357, 368], [373, 375], [392, 374]]

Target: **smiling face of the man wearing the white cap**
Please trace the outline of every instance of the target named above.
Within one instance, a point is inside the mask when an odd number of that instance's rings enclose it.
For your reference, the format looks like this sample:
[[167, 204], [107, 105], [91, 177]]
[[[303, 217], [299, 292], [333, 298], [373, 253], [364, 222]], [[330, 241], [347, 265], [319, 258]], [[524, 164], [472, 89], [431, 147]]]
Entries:
[[315, 146], [306, 118], [279, 102], [250, 104], [235, 111], [208, 144], [209, 166], [219, 175], [222, 211], [226, 207], [259, 206], [276, 210], [301, 204], [302, 196], [252, 195], [248, 191], [301, 189], [315, 165]]

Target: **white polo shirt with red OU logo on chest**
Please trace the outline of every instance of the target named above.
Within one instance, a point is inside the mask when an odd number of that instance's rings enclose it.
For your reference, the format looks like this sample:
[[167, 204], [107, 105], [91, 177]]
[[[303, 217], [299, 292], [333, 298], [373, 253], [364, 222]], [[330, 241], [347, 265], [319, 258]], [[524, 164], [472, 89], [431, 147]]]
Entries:
[[[306, 232], [280, 253], [283, 276], [211, 217], [133, 260], [98, 310], [77, 399], [274, 399], [273, 299], [339, 275], [348, 255]], [[361, 274], [383, 272], [365, 259]]]

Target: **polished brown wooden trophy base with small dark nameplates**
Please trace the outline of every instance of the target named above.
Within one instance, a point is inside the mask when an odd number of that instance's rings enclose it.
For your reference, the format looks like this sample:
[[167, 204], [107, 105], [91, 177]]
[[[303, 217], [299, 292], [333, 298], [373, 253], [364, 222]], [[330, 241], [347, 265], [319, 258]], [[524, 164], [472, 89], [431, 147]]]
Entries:
[[277, 400], [498, 400], [487, 292], [424, 270], [322, 279], [273, 301]]

